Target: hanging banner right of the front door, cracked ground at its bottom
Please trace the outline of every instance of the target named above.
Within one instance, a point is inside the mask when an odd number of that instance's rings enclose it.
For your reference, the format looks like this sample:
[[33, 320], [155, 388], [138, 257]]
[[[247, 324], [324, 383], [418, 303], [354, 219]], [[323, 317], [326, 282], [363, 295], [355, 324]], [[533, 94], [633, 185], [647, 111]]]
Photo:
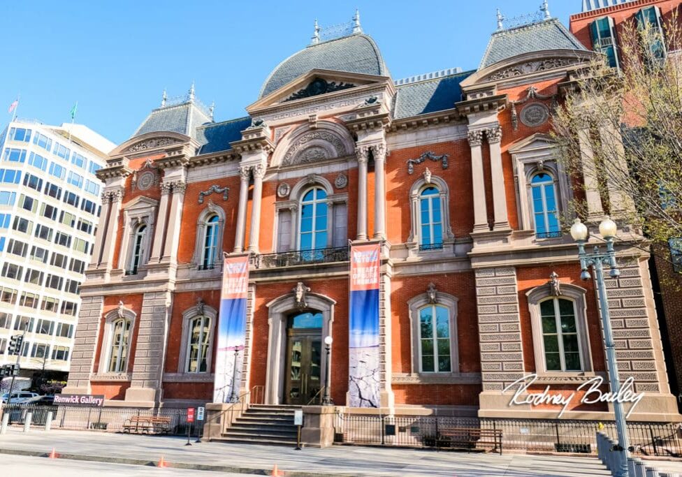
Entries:
[[351, 246], [349, 383], [351, 407], [379, 407], [381, 244]]

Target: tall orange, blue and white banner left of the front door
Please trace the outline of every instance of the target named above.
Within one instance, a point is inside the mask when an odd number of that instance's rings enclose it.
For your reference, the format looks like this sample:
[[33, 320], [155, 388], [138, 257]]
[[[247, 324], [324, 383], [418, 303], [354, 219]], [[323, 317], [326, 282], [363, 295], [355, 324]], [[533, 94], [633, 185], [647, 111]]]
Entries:
[[213, 402], [239, 397], [246, 344], [249, 256], [227, 257], [223, 264]]

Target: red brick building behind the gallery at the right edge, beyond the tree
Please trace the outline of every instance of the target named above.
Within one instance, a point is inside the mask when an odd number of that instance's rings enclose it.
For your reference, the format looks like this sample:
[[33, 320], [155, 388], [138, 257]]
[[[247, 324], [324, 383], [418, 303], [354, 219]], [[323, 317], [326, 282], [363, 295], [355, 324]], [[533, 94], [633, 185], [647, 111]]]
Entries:
[[[648, 22], [660, 29], [665, 38], [665, 24], [679, 19], [682, 2], [679, 0], [609, 1], [584, 0], [583, 11], [570, 17], [570, 30], [585, 47], [607, 55], [609, 64], [620, 68], [623, 62], [618, 36], [627, 22]], [[655, 42], [652, 51], [665, 57], [665, 43]], [[682, 240], [671, 237], [668, 247], [655, 247], [651, 256], [654, 298], [671, 390], [679, 396], [682, 410]]]

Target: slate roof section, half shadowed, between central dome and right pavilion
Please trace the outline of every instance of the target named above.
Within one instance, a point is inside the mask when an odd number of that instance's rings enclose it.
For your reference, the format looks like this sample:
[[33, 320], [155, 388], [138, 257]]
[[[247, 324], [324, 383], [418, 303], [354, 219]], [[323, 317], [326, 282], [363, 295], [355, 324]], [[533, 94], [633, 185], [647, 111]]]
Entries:
[[454, 108], [455, 103], [462, 101], [460, 82], [472, 73], [474, 71], [465, 71], [398, 86], [393, 117], [402, 119]]

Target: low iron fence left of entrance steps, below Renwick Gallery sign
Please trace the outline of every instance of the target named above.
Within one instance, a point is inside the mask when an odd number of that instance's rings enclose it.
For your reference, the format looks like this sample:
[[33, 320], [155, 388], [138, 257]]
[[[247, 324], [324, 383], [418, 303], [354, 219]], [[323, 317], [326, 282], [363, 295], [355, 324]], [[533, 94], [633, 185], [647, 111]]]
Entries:
[[[48, 413], [52, 412], [52, 429], [93, 430], [123, 432], [124, 425], [131, 418], [167, 417], [168, 434], [187, 435], [187, 408], [140, 409], [132, 407], [79, 407], [54, 405], [4, 406], [3, 413], [9, 414], [10, 425], [23, 425], [27, 413], [31, 413], [31, 424], [45, 425]], [[203, 422], [195, 420], [191, 425], [191, 436], [199, 436]]]

